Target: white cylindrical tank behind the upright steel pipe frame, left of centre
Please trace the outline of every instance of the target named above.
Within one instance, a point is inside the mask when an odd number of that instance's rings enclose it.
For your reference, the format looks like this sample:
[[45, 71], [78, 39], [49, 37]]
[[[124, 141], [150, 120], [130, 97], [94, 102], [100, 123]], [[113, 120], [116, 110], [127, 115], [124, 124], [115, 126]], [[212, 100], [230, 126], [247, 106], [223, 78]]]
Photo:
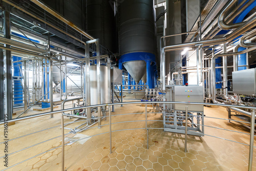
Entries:
[[[90, 66], [91, 105], [98, 104], [97, 66]], [[109, 103], [108, 67], [100, 66], [100, 103]]]

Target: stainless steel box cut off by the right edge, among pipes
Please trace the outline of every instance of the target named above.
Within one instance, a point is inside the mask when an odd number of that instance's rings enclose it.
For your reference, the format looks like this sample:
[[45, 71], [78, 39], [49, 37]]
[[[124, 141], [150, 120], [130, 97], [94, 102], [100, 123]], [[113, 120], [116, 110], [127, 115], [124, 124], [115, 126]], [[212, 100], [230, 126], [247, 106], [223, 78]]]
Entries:
[[233, 93], [256, 95], [256, 69], [232, 72]]

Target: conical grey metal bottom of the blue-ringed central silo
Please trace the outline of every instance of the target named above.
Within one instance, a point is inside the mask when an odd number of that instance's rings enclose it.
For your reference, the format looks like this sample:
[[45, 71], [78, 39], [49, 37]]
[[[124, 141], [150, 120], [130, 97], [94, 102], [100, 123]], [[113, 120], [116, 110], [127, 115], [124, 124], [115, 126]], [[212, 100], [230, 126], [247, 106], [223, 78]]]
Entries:
[[131, 74], [136, 83], [138, 83], [146, 73], [146, 62], [144, 60], [124, 62], [123, 66], [129, 74]]

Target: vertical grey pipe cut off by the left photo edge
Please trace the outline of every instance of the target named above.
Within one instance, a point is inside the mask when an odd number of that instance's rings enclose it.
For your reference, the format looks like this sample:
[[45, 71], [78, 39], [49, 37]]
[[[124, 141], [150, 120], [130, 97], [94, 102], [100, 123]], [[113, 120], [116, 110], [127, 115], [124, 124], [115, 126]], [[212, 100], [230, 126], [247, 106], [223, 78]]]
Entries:
[[[3, 49], [0, 49], [0, 97], [5, 96], [5, 70], [4, 70], [4, 53]], [[5, 102], [3, 99], [0, 100], [0, 120], [4, 120], [5, 115]]]

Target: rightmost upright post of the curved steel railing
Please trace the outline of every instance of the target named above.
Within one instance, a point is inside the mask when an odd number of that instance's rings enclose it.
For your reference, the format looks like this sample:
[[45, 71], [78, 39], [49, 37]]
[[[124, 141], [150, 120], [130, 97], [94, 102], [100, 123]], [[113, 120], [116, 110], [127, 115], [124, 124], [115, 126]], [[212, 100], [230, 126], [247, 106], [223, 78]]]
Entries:
[[248, 171], [252, 169], [253, 143], [254, 143], [254, 126], [255, 126], [255, 110], [251, 114], [251, 131], [250, 131], [250, 148], [249, 148], [249, 165]]

